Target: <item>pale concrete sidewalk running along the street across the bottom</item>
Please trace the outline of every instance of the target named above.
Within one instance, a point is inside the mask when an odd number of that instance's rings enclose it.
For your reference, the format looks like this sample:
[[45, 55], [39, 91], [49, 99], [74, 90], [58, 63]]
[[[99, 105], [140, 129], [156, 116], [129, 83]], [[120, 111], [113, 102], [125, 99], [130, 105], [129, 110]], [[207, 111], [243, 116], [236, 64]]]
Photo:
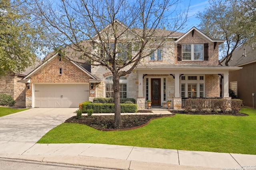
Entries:
[[256, 169], [256, 155], [92, 143], [35, 144], [0, 141], [0, 157], [122, 170]]

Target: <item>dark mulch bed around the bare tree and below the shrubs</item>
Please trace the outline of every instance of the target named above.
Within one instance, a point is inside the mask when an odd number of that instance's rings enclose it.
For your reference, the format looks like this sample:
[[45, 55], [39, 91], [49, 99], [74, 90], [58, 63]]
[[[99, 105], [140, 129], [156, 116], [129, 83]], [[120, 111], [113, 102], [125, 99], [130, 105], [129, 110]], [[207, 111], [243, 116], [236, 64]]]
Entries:
[[[139, 110], [137, 113], [152, 113], [150, 110]], [[122, 126], [114, 127], [114, 115], [106, 115], [106, 116], [97, 116], [97, 115], [83, 115], [81, 119], [78, 119], [76, 116], [70, 117], [65, 121], [65, 123], [80, 123], [85, 124], [90, 127], [94, 127], [95, 129], [102, 131], [111, 131], [111, 130], [130, 130], [136, 129], [138, 127], [142, 127], [149, 123], [151, 119], [156, 119], [164, 116], [174, 116], [175, 114], [190, 114], [190, 115], [234, 115], [230, 113], [198, 113], [198, 112], [190, 112], [185, 113], [184, 111], [171, 111], [170, 115], [121, 115]], [[235, 114], [237, 116], [248, 116], [244, 113]]]

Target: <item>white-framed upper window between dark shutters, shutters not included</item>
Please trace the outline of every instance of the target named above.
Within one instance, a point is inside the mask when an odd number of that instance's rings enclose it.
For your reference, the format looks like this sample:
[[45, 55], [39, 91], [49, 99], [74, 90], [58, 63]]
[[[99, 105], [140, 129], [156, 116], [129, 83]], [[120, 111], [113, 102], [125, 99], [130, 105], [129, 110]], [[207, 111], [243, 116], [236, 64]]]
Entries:
[[183, 44], [182, 60], [203, 60], [203, 44]]

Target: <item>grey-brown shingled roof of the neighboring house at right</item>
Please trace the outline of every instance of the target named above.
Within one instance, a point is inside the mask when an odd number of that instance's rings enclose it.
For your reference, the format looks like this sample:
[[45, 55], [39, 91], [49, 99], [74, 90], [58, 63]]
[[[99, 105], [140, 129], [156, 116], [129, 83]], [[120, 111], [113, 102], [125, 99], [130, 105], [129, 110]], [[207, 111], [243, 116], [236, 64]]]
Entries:
[[[246, 56], [244, 56], [244, 49]], [[256, 62], [256, 49], [253, 49], [250, 45], [241, 45], [234, 50], [229, 65], [242, 66], [254, 62]]]

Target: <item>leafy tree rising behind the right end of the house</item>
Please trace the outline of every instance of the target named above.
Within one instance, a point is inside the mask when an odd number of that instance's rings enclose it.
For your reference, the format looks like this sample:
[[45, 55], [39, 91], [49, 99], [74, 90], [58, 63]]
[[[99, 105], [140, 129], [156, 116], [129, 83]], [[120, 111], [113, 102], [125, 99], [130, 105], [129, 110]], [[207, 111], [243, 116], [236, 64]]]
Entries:
[[226, 40], [220, 45], [223, 57], [220, 65], [225, 62], [228, 66], [234, 50], [255, 39], [255, 17], [250, 15], [253, 12], [250, 13], [245, 2], [250, 0], [214, 0], [204, 12], [198, 13], [199, 27], [206, 35]]

